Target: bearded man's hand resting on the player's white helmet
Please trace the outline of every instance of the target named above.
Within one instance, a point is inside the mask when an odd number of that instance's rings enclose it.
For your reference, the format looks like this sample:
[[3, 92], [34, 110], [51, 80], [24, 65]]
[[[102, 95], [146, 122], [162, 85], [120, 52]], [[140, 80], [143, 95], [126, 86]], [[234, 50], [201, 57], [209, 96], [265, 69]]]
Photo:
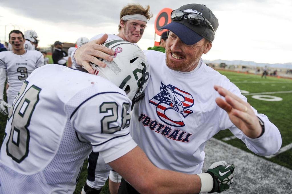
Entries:
[[105, 67], [105, 63], [98, 60], [98, 58], [112, 61], [113, 57], [110, 55], [114, 55], [113, 50], [100, 45], [106, 40], [107, 34], [104, 34], [101, 38], [92, 40], [87, 44], [79, 47], [73, 56], [74, 59], [76, 59], [77, 64], [83, 66], [91, 74], [93, 74], [93, 69], [89, 65], [89, 62], [92, 62], [100, 67]]

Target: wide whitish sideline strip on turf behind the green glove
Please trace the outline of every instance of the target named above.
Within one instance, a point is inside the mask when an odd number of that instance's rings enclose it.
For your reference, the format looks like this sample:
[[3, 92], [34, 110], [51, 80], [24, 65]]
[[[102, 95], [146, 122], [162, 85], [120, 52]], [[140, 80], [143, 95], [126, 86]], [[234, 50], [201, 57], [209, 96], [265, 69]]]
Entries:
[[292, 170], [254, 154], [211, 138], [204, 149], [203, 172], [212, 163], [226, 161], [235, 165], [234, 182], [225, 193], [292, 193]]

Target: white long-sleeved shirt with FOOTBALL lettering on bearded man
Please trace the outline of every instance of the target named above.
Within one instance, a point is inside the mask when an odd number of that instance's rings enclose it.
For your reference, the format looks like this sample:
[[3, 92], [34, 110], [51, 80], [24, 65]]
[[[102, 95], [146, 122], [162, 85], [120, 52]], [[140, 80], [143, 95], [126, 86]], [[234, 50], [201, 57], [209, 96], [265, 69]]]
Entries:
[[192, 72], [174, 71], [166, 66], [164, 53], [144, 53], [152, 72], [144, 99], [134, 106], [129, 128], [133, 140], [154, 165], [187, 174], [201, 173], [206, 142], [227, 128], [258, 155], [267, 156], [279, 150], [281, 135], [265, 115], [253, 109], [265, 123], [265, 132], [251, 139], [234, 126], [227, 113], [216, 104], [215, 98], [223, 97], [215, 91], [214, 85], [246, 101], [225, 76], [202, 60]]

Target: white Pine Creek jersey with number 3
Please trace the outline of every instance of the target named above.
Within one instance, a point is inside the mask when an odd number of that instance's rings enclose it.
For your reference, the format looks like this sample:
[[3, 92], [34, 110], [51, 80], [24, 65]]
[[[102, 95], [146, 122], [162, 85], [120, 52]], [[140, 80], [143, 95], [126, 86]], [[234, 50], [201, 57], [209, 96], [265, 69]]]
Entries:
[[22, 55], [14, 54], [13, 51], [0, 52], [0, 68], [6, 69], [9, 84], [7, 96], [14, 98], [30, 73], [43, 65], [44, 55], [36, 50], [27, 50]]

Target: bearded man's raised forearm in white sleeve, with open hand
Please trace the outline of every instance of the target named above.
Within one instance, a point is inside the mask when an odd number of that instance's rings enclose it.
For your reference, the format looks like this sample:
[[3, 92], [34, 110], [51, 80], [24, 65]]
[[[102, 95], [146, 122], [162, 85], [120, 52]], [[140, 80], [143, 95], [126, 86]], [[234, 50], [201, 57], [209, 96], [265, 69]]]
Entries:
[[[281, 134], [279, 129], [272, 124], [263, 114], [257, 111], [242, 99], [242, 95], [234, 94], [236, 91], [228, 91], [220, 86], [215, 86], [215, 90], [225, 97], [216, 98], [216, 103], [226, 111], [230, 121], [234, 124], [230, 131], [241, 139], [248, 149], [260, 156], [269, 156], [275, 154], [281, 147]], [[221, 114], [221, 119], [228, 117]], [[223, 117], [223, 118], [222, 118]], [[225, 117], [225, 118], [224, 118]]]

